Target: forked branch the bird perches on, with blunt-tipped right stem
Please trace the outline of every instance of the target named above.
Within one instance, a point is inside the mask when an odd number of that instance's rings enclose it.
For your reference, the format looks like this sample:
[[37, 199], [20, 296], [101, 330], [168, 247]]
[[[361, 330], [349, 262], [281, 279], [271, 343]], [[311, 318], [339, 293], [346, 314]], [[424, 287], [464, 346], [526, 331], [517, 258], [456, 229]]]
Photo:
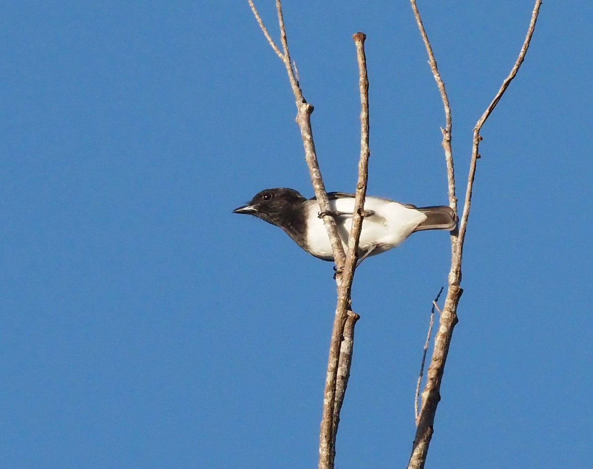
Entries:
[[352, 362], [352, 345], [354, 337], [354, 326], [358, 320], [358, 314], [350, 309], [350, 290], [356, 266], [356, 253], [358, 252], [358, 242], [362, 229], [364, 214], [364, 200], [366, 195], [366, 181], [368, 179], [368, 158], [369, 158], [369, 120], [368, 120], [368, 78], [366, 75], [366, 59], [364, 54], [365, 35], [357, 33], [354, 35], [356, 51], [359, 62], [359, 83], [361, 88], [361, 159], [359, 162], [359, 175], [356, 184], [355, 210], [352, 218], [352, 229], [347, 242], [347, 251], [345, 252], [342, 241], [340, 240], [336, 221], [329, 214], [330, 205], [327, 198], [327, 192], [321, 171], [317, 162], [315, 153], [315, 144], [313, 142], [313, 130], [311, 129], [311, 113], [313, 106], [305, 100], [302, 89], [292, 64], [290, 52], [288, 49], [288, 39], [286, 38], [286, 28], [282, 15], [282, 5], [280, 0], [276, 0], [276, 11], [278, 12], [278, 25], [280, 28], [280, 43], [282, 51], [272, 40], [267, 28], [263, 24], [262, 18], [252, 0], [247, 0], [251, 11], [256, 17], [257, 23], [262, 28], [263, 34], [270, 46], [280, 57], [285, 65], [288, 79], [291, 83], [292, 92], [297, 105], [297, 124], [301, 130], [301, 137], [305, 148], [305, 160], [309, 168], [311, 182], [315, 190], [317, 201], [322, 213], [326, 213], [323, 221], [326, 224], [328, 236], [330, 238], [334, 259], [336, 262], [336, 282], [337, 282], [337, 305], [334, 316], [333, 330], [331, 333], [331, 343], [329, 360], [327, 364], [326, 386], [323, 400], [323, 416], [320, 429], [319, 446], [319, 467], [324, 469], [333, 468], [333, 461], [336, 454], [335, 443], [337, 425], [339, 423], [339, 413], [342, 408], [342, 402], [349, 377], [350, 363]]

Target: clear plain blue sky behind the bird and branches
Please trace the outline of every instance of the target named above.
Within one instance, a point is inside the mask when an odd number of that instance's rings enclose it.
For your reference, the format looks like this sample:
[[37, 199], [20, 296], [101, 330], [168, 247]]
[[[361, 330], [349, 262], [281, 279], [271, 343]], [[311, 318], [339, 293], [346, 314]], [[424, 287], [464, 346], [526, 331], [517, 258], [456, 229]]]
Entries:
[[[276, 34], [272, 2], [259, 2]], [[421, 1], [454, 118], [507, 75], [531, 1]], [[483, 129], [463, 288], [428, 467], [591, 467], [589, 2], [544, 2]], [[286, 2], [326, 185], [447, 202], [438, 91], [409, 3]], [[331, 264], [231, 210], [313, 193], [282, 63], [246, 2], [4, 2], [0, 466], [315, 467]], [[446, 233], [369, 259], [353, 292], [337, 467], [403, 467]]]

